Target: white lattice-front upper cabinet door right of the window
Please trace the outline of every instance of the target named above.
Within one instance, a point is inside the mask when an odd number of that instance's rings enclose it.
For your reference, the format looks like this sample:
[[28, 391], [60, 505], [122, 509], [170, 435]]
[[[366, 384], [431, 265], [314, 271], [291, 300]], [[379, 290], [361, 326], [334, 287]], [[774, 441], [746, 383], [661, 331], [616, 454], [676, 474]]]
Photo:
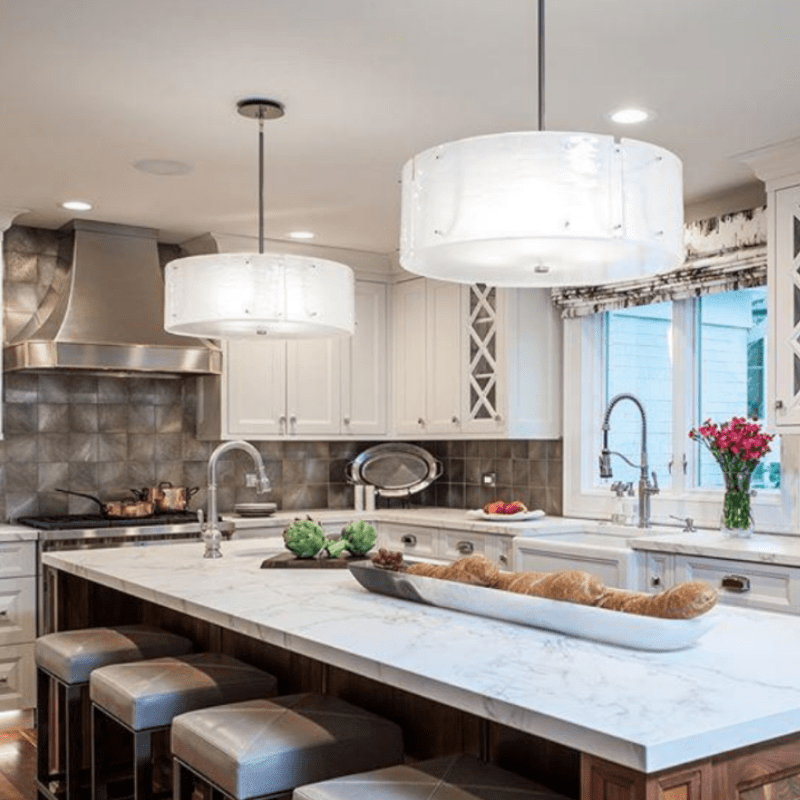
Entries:
[[775, 424], [800, 431], [800, 186], [775, 192], [773, 247], [768, 259], [772, 341], [770, 386]]

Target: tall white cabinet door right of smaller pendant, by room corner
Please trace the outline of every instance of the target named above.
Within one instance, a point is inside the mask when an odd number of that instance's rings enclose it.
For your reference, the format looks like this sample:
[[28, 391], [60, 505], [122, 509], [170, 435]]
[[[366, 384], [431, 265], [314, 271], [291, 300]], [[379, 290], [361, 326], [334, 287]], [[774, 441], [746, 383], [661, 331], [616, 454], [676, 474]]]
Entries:
[[342, 341], [342, 433], [386, 433], [386, 285], [356, 282], [356, 329]]

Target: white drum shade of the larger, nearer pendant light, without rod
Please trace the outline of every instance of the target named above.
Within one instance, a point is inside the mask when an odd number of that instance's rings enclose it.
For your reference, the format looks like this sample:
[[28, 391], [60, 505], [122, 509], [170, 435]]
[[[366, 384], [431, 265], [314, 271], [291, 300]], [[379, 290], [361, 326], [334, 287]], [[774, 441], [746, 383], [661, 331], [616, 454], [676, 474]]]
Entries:
[[683, 259], [681, 162], [645, 142], [504, 133], [439, 145], [403, 168], [409, 272], [568, 286], [652, 276]]

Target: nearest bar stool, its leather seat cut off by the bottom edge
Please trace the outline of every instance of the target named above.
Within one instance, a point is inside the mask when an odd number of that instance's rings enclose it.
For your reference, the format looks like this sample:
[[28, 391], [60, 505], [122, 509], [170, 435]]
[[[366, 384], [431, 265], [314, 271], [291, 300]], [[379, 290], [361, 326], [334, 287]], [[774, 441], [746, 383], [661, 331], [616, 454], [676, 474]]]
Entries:
[[465, 755], [301, 786], [292, 800], [566, 800], [538, 783]]

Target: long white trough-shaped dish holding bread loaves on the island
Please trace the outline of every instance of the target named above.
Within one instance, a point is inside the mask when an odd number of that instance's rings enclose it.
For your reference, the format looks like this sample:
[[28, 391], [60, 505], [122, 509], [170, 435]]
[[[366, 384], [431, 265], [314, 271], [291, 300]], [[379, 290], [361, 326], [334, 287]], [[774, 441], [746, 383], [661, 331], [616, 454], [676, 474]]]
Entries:
[[694, 619], [646, 617], [422, 575], [390, 572], [369, 561], [358, 561], [348, 564], [348, 567], [353, 577], [371, 592], [634, 650], [682, 650], [691, 647], [717, 624], [715, 608]]

